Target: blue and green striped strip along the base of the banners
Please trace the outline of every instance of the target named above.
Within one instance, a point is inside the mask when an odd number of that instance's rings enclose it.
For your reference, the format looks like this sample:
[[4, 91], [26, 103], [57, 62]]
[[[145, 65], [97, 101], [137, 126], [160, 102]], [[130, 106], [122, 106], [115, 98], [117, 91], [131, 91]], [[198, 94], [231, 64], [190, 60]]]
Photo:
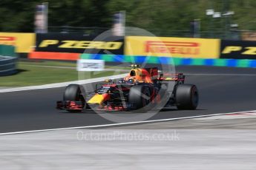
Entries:
[[81, 59], [96, 59], [106, 62], [137, 63], [144, 62], [150, 64], [174, 64], [197, 65], [197, 66], [218, 66], [218, 67], [252, 67], [256, 68], [256, 60], [247, 59], [216, 59], [216, 58], [168, 58], [142, 55], [101, 55], [101, 54], [82, 54]]

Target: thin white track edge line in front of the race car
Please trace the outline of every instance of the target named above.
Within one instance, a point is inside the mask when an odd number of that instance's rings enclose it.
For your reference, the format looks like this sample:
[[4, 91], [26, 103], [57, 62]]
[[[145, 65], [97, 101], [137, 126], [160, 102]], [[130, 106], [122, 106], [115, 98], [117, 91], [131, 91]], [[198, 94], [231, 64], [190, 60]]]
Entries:
[[96, 127], [131, 125], [131, 124], [137, 124], [137, 123], [154, 123], [154, 122], [163, 122], [168, 120], [183, 120], [183, 119], [190, 119], [190, 118], [205, 118], [205, 117], [218, 116], [218, 115], [232, 115], [232, 114], [245, 113], [245, 112], [256, 112], [256, 110], [243, 111], [243, 112], [217, 113], [217, 114], [211, 114], [211, 115], [197, 115], [197, 116], [168, 118], [168, 119], [159, 119], [159, 120], [144, 120], [144, 121], [126, 122], [126, 123], [111, 123], [111, 124], [93, 125], [93, 126], [77, 126], [77, 127], [57, 128], [57, 129], [41, 129], [41, 130], [20, 131], [20, 132], [6, 132], [6, 133], [0, 133], [0, 136], [1, 135], [18, 135], [18, 134], [33, 133], [33, 132], [50, 132], [50, 131], [58, 131], [58, 130], [89, 129], [89, 128], [96, 128]]

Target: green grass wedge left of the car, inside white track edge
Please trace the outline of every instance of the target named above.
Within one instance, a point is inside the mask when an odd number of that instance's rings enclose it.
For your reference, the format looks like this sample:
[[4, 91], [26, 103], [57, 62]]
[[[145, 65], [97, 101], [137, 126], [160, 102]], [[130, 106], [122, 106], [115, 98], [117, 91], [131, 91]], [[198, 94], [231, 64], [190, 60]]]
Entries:
[[65, 81], [77, 81], [87, 78], [105, 77], [108, 75], [121, 74], [123, 72], [77, 72], [76, 69], [54, 68], [76, 67], [75, 63], [61, 61], [27, 62], [19, 61], [16, 75], [0, 77], [0, 86], [34, 86], [53, 84]]

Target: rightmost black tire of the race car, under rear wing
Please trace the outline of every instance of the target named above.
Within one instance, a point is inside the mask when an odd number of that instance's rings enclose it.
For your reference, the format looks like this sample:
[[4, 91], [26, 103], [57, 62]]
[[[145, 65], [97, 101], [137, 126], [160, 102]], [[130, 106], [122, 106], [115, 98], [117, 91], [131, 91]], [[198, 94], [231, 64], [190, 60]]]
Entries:
[[180, 84], [175, 92], [175, 101], [178, 109], [197, 109], [199, 95], [197, 86]]

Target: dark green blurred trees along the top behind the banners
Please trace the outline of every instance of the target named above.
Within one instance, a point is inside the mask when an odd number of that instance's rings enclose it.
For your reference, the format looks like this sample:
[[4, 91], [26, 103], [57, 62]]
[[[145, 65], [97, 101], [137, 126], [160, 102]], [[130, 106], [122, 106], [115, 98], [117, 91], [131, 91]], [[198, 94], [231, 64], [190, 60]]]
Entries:
[[[36, 4], [42, 0], [1, 0], [1, 32], [33, 32]], [[113, 14], [126, 11], [126, 25], [154, 31], [190, 30], [200, 19], [201, 30], [225, 30], [226, 18], [206, 16], [207, 9], [226, 13], [240, 30], [256, 30], [255, 0], [49, 0], [48, 25], [111, 27]]]

